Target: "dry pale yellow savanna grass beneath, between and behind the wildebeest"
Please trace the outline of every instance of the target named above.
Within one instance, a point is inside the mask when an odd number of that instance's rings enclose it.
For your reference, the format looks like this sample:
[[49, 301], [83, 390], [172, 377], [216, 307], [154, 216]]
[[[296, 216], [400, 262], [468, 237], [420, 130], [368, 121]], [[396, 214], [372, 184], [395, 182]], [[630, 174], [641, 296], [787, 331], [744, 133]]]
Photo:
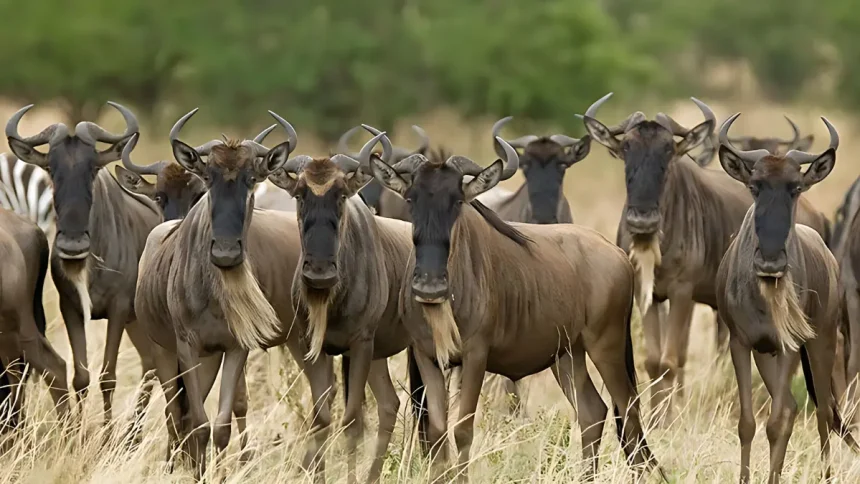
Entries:
[[[611, 104], [611, 103], [610, 103]], [[789, 133], [782, 119], [783, 107], [748, 103], [736, 105], [712, 104], [720, 120], [735, 110], [746, 109], [736, 123], [737, 133], [783, 135]], [[608, 106], [607, 106], [608, 108]], [[13, 106], [0, 109], [0, 119], [11, 114]], [[648, 109], [653, 115], [656, 109]], [[700, 121], [700, 114], [689, 102], [678, 102], [668, 110], [682, 124]], [[826, 131], [816, 108], [789, 108], [787, 114], [804, 132], [816, 134], [816, 147], [826, 140]], [[23, 133], [36, 132], [53, 122], [49, 110], [28, 115]], [[281, 113], [287, 115], [289, 113]], [[626, 113], [607, 109], [601, 118], [616, 122]], [[828, 113], [830, 114], [830, 113]], [[842, 138], [838, 162], [834, 173], [820, 186], [809, 192], [809, 197], [828, 215], [841, 200], [844, 190], [860, 173], [851, 156], [858, 143], [853, 135], [858, 132], [847, 116], [829, 115]], [[465, 123], [450, 112], [440, 111], [421, 119], [403, 120], [397, 133], [408, 133], [406, 127], [418, 122], [432, 137], [434, 144], [444, 143], [458, 153], [469, 154], [481, 163], [490, 160], [489, 127], [492, 120], [482, 123]], [[115, 126], [111, 115], [106, 127]], [[197, 123], [191, 123], [198, 126]], [[201, 122], [202, 124], [202, 122]], [[325, 146], [313, 141], [297, 127], [300, 134], [299, 152], [323, 153]], [[140, 163], [149, 157], [169, 155], [166, 129], [157, 134], [144, 131], [135, 151]], [[248, 133], [228, 131], [235, 136]], [[253, 131], [256, 132], [256, 131]], [[204, 136], [208, 133], [208, 136]], [[201, 141], [220, 134], [221, 130], [199, 128], [191, 130], [190, 141]], [[408, 135], [407, 135], [408, 136]], [[403, 144], [414, 143], [411, 138], [395, 137]], [[714, 169], [719, 163], [714, 162]], [[513, 187], [519, 175], [506, 183]], [[567, 172], [565, 191], [571, 199], [577, 222], [592, 226], [614, 240], [618, 215], [624, 198], [622, 165], [610, 158], [603, 147], [594, 145], [592, 154]], [[45, 305], [48, 314], [48, 337], [54, 347], [71, 366], [71, 351], [57, 306], [57, 294], [50, 280], [46, 284]], [[24, 483], [69, 482], [192, 482], [187, 469], [168, 473], [164, 464], [166, 435], [164, 431], [164, 401], [156, 390], [145, 417], [143, 441], [129, 449], [123, 445], [122, 431], [130, 421], [137, 381], [140, 376], [138, 358], [128, 341], [123, 341], [117, 374], [119, 385], [115, 395], [116, 425], [102, 426], [101, 396], [96, 375], [101, 367], [105, 321], [95, 321], [88, 329], [89, 362], [92, 372], [90, 393], [83, 406], [82, 430], [64, 432], [58, 427], [45, 387], [41, 382], [30, 383], [26, 402], [26, 419], [17, 439], [5, 454], [0, 456], [0, 481]], [[637, 369], [640, 391], [647, 387], [646, 373], [642, 368], [641, 326], [634, 321]], [[401, 397], [400, 419], [390, 446], [384, 470], [385, 482], [426, 481], [427, 463], [419, 457], [410, 443], [411, 420], [406, 405], [405, 358], [400, 355], [389, 364]], [[339, 373], [339, 371], [337, 372]], [[592, 375], [599, 381], [596, 372]], [[753, 443], [753, 481], [766, 478], [768, 445], [764, 422], [769, 412], [769, 399], [761, 380], [754, 380], [758, 428]], [[210, 468], [212, 477], [221, 473], [227, 482], [306, 482], [298, 462], [302, 456], [304, 419], [309, 414], [310, 396], [304, 378], [289, 359], [281, 360], [276, 351], [268, 354], [256, 352], [248, 365], [250, 404], [248, 432], [253, 460], [247, 465], [238, 463], [238, 445], [235, 435], [231, 439], [228, 455], [220, 471]], [[339, 381], [339, 377], [338, 377]], [[740, 448], [737, 438], [737, 391], [730, 358], [717, 354], [714, 343], [714, 321], [710, 310], [698, 308], [692, 328], [690, 356], [687, 364], [687, 390], [683, 407], [676, 420], [663, 428], [649, 430], [652, 450], [667, 470], [671, 482], [732, 482], [737, 479]], [[216, 383], [217, 385], [217, 383]], [[473, 464], [470, 472], [474, 482], [566, 482], [578, 480], [584, 468], [581, 462], [579, 428], [575, 413], [567, 404], [555, 384], [551, 373], [527, 378], [523, 381], [525, 416], [510, 417], [506, 402], [497, 391], [485, 391], [476, 423], [473, 446]], [[598, 383], [598, 388], [601, 388]], [[786, 482], [817, 482], [820, 479], [819, 442], [815, 417], [803, 387], [802, 377], [795, 378], [793, 389], [796, 398], [805, 406], [795, 425], [788, 448], [783, 477]], [[605, 392], [603, 392], [605, 394]], [[334, 421], [342, 411], [342, 390], [338, 390]], [[214, 415], [217, 392], [207, 402], [210, 417]], [[375, 433], [375, 403], [368, 392], [368, 412], [365, 436], [370, 444]], [[645, 415], [650, 414], [647, 406]], [[452, 419], [456, 411], [451, 412]], [[328, 480], [341, 482], [346, 476], [343, 458], [345, 440], [333, 432], [327, 449]], [[453, 439], [451, 448], [453, 450]], [[860, 482], [860, 459], [838, 439], [834, 440], [833, 466], [838, 482]], [[366, 445], [360, 458], [359, 475], [370, 465], [370, 445]], [[615, 438], [614, 425], [606, 425], [601, 448], [599, 482], [629, 482], [632, 474], [627, 470]], [[656, 476], [646, 479], [656, 482]]]

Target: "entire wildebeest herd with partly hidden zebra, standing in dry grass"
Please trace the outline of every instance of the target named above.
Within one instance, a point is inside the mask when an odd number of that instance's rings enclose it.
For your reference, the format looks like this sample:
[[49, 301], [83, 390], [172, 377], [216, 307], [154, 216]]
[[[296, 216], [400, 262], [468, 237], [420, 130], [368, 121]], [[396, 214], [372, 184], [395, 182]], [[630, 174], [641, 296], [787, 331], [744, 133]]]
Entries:
[[[829, 476], [832, 431], [858, 450], [839, 402], [854, 400], [860, 370], [860, 185], [846, 196], [835, 227], [803, 192], [832, 171], [836, 128], [822, 118], [830, 142], [821, 153], [807, 152], [812, 138], [801, 138], [791, 120], [791, 140], [733, 138], [739, 114], [717, 130], [714, 113], [695, 98], [704, 120], [693, 127], [642, 112], [608, 125], [597, 111], [610, 96], [581, 116], [588, 134], [580, 139], [506, 140], [501, 131], [510, 118], [501, 119], [487, 140], [499, 159], [488, 166], [431, 150], [418, 127], [415, 150], [362, 125], [344, 135], [336, 154], [294, 155], [296, 130], [271, 111], [276, 124], [253, 139], [193, 147], [180, 135], [197, 109], [170, 131], [175, 162], [142, 163], [132, 160], [138, 121], [119, 104], [109, 103], [125, 120], [120, 134], [81, 122], [25, 137], [18, 124], [32, 105], [21, 109], [6, 125], [12, 154], [0, 160], [0, 200], [9, 209], [0, 211], [6, 426], [11, 432], [18, 424], [21, 398], [13, 388], [25, 377], [14, 360], [42, 375], [57, 412], [72, 418], [69, 403], [85, 397], [90, 381], [87, 322], [107, 319], [105, 420], [112, 419], [125, 331], [148, 379], [137, 413], [157, 376], [167, 402], [167, 458], [187, 455], [198, 475], [210, 438], [219, 451], [227, 446], [233, 416], [245, 448], [249, 352], [283, 345], [310, 385], [313, 437], [303, 467], [318, 480], [331, 433], [332, 357], [343, 357], [349, 482], [357, 480], [365, 386], [378, 403], [367, 476], [375, 482], [400, 406], [388, 358], [404, 350], [417, 436], [434, 476], [449, 471], [448, 369], [460, 369], [453, 469], [466, 479], [485, 373], [505, 378], [516, 396], [517, 381], [551, 368], [577, 408], [589, 479], [608, 408], [586, 369], [587, 354], [611, 397], [628, 464], [665, 478], [639, 409], [631, 319], [637, 306], [651, 408], [669, 415], [675, 404], [668, 399], [683, 388], [693, 306], [701, 303], [728, 332], [740, 395], [741, 481], [750, 477], [756, 428], [750, 354], [772, 396], [770, 480], [779, 480], [798, 412], [790, 393], [798, 364], [817, 406]], [[278, 128], [286, 141], [267, 147]], [[372, 138], [351, 152], [347, 141], [361, 131]], [[588, 156], [592, 140], [624, 163], [616, 244], [574, 224], [562, 190], [565, 170]], [[98, 143], [108, 146], [98, 150]], [[705, 168], [715, 156], [723, 171]], [[116, 177], [105, 169], [115, 161], [122, 162]], [[518, 170], [525, 175], [520, 188], [497, 187]], [[267, 179], [275, 187], [260, 189]], [[43, 228], [54, 223], [49, 251]], [[49, 263], [73, 351], [73, 394], [65, 362], [44, 337]], [[210, 424], [203, 403], [219, 370]]]

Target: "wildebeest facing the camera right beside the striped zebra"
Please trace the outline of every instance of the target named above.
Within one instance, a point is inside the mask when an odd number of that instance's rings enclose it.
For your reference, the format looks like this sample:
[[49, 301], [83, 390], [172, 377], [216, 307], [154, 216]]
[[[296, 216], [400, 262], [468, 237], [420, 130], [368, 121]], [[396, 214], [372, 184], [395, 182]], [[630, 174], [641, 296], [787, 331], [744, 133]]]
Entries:
[[[9, 147], [18, 158], [48, 169], [54, 185], [57, 235], [51, 256], [51, 275], [60, 296], [60, 312], [74, 354], [72, 384], [82, 397], [89, 386], [86, 323], [90, 318], [108, 319], [101, 391], [105, 420], [111, 419], [116, 387], [116, 363], [123, 329], [141, 357], [144, 375], [154, 368], [149, 340], [135, 323], [134, 289], [137, 262], [146, 236], [159, 223], [157, 207], [146, 197], [131, 194], [103, 169], [120, 159], [123, 147], [138, 132], [138, 122], [125, 107], [109, 102], [123, 116], [122, 134], [105, 131], [92, 122], [80, 122], [74, 133], [62, 123], [24, 138], [18, 122], [33, 105], [16, 112], [6, 124]], [[103, 151], [96, 143], [109, 143]], [[48, 145], [48, 152], [36, 150]], [[147, 379], [141, 408], [149, 398]]]

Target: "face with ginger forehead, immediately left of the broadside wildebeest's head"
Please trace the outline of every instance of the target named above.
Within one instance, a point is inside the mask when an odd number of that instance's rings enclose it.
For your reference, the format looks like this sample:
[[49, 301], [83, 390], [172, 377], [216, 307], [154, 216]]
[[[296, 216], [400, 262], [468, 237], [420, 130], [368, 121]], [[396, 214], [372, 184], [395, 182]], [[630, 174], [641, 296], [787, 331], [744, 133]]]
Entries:
[[[335, 159], [340, 156], [335, 155]], [[296, 198], [302, 281], [312, 289], [330, 289], [338, 281], [337, 259], [347, 200], [371, 177], [360, 168], [341, 168], [330, 158], [305, 158], [296, 172], [281, 169], [269, 179]]]

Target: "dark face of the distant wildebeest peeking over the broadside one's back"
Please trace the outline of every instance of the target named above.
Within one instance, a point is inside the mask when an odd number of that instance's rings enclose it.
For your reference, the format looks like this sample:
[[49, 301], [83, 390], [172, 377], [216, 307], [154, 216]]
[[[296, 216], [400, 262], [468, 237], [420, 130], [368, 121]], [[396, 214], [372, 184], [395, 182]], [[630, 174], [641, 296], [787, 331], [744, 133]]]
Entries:
[[520, 168], [526, 177], [526, 189], [533, 223], [558, 223], [558, 204], [564, 185], [564, 174], [574, 163], [588, 155], [590, 138], [576, 143], [566, 153], [548, 138], [539, 138], [526, 146], [520, 156]]

